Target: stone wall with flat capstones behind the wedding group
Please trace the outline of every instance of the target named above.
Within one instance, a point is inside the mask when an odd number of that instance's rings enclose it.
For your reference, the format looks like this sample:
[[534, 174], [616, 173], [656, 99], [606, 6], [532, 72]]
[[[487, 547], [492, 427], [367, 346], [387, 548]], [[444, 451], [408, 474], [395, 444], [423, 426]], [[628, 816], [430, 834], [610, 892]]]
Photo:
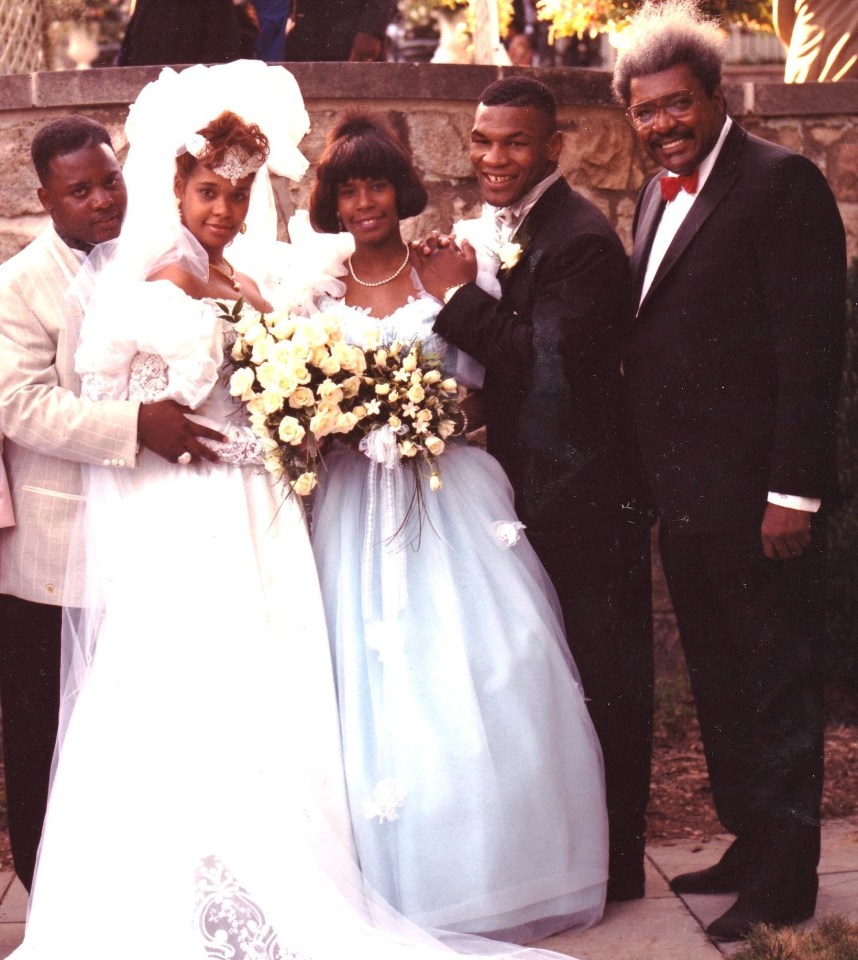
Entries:
[[[429, 64], [293, 64], [312, 130], [302, 144], [311, 161], [325, 131], [350, 106], [386, 112], [411, 146], [430, 191], [430, 206], [407, 224], [410, 235], [445, 228], [478, 207], [467, 162], [473, 108], [480, 91], [503, 72], [494, 67]], [[86, 113], [106, 124], [120, 154], [127, 105], [154, 79], [156, 67], [59, 71], [0, 77], [0, 260], [11, 256], [45, 222], [36, 197], [28, 147], [46, 120]], [[561, 166], [631, 239], [637, 193], [652, 167], [637, 146], [623, 111], [611, 102], [602, 71], [537, 71], [561, 105], [566, 144]], [[806, 86], [726, 83], [733, 116], [751, 132], [798, 150], [817, 163], [834, 189], [846, 224], [851, 256], [858, 256], [858, 81]], [[358, 95], [360, 94], [360, 95]], [[284, 216], [306, 204], [312, 176], [276, 185]]]

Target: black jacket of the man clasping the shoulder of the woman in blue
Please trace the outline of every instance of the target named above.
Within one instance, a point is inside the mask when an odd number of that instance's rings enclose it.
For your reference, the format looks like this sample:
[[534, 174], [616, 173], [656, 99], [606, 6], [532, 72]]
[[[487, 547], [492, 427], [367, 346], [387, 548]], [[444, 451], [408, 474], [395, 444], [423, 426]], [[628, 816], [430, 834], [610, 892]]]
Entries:
[[534, 539], [589, 542], [640, 521], [620, 377], [629, 271], [602, 214], [559, 180], [519, 228], [500, 300], [468, 284], [435, 330], [486, 367], [488, 449]]

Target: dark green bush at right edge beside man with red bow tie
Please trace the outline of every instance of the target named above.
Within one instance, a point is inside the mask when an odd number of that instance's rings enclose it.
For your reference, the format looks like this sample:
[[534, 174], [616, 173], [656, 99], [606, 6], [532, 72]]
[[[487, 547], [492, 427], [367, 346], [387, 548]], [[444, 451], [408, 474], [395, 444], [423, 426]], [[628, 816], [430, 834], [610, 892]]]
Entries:
[[837, 447], [843, 502], [829, 526], [830, 667], [832, 679], [858, 688], [858, 259], [849, 270]]

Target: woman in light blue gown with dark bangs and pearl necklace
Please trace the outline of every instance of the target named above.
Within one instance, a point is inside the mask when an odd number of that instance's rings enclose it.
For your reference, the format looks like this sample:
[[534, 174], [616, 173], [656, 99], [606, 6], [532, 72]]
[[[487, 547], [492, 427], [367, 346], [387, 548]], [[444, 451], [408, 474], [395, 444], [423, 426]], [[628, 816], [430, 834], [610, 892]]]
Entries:
[[[328, 135], [311, 199], [348, 230], [346, 294], [321, 306], [361, 343], [422, 341], [447, 375], [480, 368], [432, 327], [400, 219], [427, 200], [379, 118]], [[467, 405], [467, 402], [466, 402]], [[517, 942], [599, 920], [607, 881], [601, 753], [556, 597], [494, 458], [447, 441], [442, 489], [413, 463], [338, 444], [313, 548], [331, 636], [361, 869], [424, 927]]]

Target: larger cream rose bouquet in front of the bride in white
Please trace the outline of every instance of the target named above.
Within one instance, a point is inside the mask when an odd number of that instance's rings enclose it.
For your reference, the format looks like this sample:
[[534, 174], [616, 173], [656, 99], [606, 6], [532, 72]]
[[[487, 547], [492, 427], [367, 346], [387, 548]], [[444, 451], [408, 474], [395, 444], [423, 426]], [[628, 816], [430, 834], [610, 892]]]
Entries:
[[327, 313], [261, 314], [238, 301], [219, 304], [235, 328], [229, 391], [247, 407], [266, 449], [265, 466], [299, 496], [317, 483], [321, 441], [354, 431], [365, 412], [366, 355], [343, 339]]

